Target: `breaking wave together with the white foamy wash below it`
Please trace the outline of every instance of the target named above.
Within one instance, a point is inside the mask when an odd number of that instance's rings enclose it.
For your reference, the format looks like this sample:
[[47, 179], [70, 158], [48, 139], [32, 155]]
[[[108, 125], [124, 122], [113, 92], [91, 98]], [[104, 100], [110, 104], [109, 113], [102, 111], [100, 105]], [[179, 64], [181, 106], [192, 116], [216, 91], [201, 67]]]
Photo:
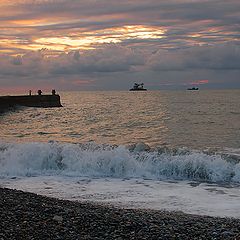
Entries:
[[240, 218], [236, 158], [136, 146], [1, 143], [0, 185], [126, 208]]

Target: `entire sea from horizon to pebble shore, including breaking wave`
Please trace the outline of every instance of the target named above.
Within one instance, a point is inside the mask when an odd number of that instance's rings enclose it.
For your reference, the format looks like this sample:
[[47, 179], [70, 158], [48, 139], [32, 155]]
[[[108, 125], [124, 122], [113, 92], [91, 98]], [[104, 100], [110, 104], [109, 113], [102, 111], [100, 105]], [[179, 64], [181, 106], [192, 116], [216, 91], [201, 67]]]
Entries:
[[0, 115], [0, 186], [240, 218], [240, 90], [60, 92]]

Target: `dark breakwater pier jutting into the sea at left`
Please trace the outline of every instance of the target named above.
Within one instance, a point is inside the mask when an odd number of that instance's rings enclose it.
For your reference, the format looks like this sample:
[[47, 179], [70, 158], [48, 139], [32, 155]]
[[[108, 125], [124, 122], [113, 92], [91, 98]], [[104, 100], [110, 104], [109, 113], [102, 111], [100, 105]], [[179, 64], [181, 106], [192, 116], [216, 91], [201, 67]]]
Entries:
[[1, 96], [0, 112], [15, 106], [27, 107], [62, 107], [60, 96], [56, 95], [26, 95], [26, 96]]

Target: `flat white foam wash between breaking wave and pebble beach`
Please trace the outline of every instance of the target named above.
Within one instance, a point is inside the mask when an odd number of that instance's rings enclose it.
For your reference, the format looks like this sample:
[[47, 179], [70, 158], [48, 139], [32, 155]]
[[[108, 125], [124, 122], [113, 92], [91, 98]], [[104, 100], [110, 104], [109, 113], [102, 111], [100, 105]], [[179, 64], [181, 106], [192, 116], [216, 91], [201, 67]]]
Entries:
[[63, 176], [5, 178], [0, 179], [0, 185], [72, 201], [240, 218], [239, 187], [188, 181]]

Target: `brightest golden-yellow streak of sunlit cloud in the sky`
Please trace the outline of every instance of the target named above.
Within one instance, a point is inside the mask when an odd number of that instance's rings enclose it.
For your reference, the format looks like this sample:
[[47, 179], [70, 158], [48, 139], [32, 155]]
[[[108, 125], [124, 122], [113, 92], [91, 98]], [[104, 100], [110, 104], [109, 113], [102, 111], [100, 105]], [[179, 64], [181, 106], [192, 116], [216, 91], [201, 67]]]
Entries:
[[161, 39], [164, 38], [165, 30], [150, 26], [123, 26], [97, 31], [68, 34], [69, 36], [40, 37], [27, 39], [1, 39], [2, 47], [19, 48], [22, 50], [49, 50], [69, 51], [74, 49], [93, 49], [94, 46], [106, 43], [121, 43], [131, 39]]

